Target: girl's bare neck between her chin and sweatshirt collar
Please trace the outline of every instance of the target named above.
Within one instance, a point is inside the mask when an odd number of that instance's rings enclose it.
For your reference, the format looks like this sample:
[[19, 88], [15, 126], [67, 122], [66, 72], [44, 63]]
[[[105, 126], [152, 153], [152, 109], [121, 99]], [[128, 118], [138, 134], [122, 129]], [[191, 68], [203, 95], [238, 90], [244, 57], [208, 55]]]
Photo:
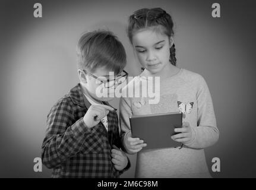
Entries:
[[144, 69], [144, 71], [141, 73], [141, 76], [145, 77], [160, 77], [162, 80], [165, 78], [172, 77], [173, 75], [176, 75], [179, 72], [180, 68], [172, 65], [167, 64], [161, 71], [152, 74], [151, 72], [147, 71], [147, 69]]

